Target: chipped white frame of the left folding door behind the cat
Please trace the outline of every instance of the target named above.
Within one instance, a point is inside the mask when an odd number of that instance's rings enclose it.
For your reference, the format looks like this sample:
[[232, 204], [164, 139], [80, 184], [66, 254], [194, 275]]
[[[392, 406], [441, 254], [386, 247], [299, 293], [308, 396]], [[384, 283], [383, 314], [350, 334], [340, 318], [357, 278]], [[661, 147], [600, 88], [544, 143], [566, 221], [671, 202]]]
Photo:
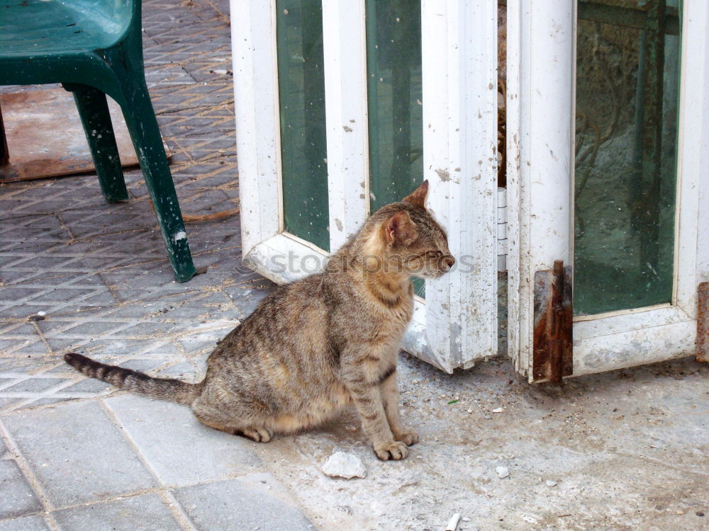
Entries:
[[[274, 0], [231, 0], [245, 261], [275, 282], [282, 257], [327, 253], [284, 230]], [[323, 0], [330, 248], [369, 213], [364, 0]], [[457, 269], [426, 282], [404, 348], [446, 372], [497, 353], [497, 2], [423, 0], [423, 145], [428, 206]]]

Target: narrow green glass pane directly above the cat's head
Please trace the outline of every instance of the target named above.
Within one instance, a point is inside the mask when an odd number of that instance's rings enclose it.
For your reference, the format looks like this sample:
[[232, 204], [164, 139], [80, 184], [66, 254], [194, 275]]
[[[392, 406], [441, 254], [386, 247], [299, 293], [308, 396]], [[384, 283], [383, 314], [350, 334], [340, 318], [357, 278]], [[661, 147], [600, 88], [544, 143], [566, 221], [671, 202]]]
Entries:
[[[372, 211], [423, 183], [421, 1], [367, 0], [369, 199]], [[423, 280], [414, 280], [424, 295]]]

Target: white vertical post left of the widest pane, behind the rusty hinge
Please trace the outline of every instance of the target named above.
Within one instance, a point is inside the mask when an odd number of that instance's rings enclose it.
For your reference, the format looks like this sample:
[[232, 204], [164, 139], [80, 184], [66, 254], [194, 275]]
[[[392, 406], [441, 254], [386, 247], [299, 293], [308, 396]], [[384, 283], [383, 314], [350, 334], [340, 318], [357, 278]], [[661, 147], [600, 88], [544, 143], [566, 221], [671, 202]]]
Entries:
[[[508, 2], [507, 67], [513, 77], [508, 83], [507, 134], [519, 139], [508, 148], [508, 289], [510, 302], [518, 301], [519, 308], [508, 321], [508, 329], [519, 327], [510, 332], [509, 348], [516, 353], [518, 370], [530, 379], [535, 271], [548, 269], [554, 260], [571, 263], [572, 255], [574, 4]], [[519, 159], [514, 161], [517, 149]], [[517, 215], [511, 212], [514, 208]]]

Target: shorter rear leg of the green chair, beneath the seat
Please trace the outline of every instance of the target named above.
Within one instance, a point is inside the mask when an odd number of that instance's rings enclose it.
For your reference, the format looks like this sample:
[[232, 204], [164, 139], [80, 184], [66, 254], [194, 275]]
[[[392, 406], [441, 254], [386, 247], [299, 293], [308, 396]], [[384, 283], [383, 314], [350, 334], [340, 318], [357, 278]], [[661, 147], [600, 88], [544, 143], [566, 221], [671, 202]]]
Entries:
[[108, 202], [127, 201], [128, 190], [125, 189], [106, 94], [86, 85], [69, 85], [65, 88], [74, 93], [104, 198]]

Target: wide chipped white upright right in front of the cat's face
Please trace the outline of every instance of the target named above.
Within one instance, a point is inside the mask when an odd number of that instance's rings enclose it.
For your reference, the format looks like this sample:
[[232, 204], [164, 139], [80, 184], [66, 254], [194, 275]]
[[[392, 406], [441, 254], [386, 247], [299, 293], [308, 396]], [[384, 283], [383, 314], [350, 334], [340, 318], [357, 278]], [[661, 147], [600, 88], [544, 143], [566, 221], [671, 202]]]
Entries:
[[422, 10], [428, 202], [459, 261], [426, 282], [426, 336], [450, 372], [497, 353], [497, 2]]

